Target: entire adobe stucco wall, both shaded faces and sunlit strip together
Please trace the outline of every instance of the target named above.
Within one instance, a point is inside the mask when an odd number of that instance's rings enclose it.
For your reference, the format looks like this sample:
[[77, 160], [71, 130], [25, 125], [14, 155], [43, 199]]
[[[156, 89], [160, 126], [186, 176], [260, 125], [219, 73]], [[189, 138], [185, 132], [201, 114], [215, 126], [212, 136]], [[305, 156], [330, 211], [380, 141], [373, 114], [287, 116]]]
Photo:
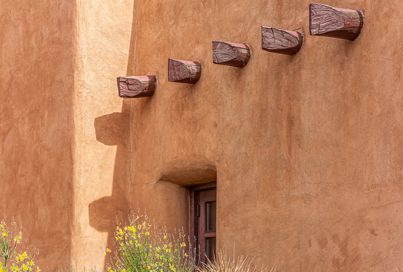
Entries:
[[[321, 2], [364, 12], [351, 42], [310, 36], [307, 1], [23, 2], [1, 8], [1, 207], [39, 264], [102, 268], [137, 202], [188, 231], [185, 185], [213, 180], [218, 247], [280, 271], [403, 264], [402, 3]], [[301, 51], [261, 50], [261, 25], [299, 29]], [[213, 40], [249, 63], [213, 64]], [[168, 82], [168, 58], [202, 78]], [[148, 74], [153, 97], [117, 96]]]

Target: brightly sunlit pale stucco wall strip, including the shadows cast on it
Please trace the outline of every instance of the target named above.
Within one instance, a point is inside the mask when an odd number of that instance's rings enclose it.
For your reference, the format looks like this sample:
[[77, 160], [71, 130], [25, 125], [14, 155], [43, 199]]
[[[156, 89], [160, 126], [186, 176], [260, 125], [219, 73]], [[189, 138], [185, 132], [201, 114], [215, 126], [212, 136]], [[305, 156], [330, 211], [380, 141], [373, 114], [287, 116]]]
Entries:
[[79, 269], [103, 269], [100, 247], [112, 241], [115, 215], [122, 220], [129, 212], [125, 194], [130, 194], [131, 144], [124, 133], [129, 118], [127, 105], [116, 95], [116, 76], [126, 74], [132, 16], [132, 0], [77, 1], [77, 192], [71, 258]]

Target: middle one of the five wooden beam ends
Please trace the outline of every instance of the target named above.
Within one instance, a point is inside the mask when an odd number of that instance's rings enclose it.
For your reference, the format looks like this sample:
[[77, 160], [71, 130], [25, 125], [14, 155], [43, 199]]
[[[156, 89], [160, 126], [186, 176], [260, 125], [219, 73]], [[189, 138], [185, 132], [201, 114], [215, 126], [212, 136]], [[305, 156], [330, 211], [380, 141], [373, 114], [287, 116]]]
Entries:
[[243, 67], [250, 58], [251, 53], [245, 43], [213, 41], [213, 62], [215, 64]]

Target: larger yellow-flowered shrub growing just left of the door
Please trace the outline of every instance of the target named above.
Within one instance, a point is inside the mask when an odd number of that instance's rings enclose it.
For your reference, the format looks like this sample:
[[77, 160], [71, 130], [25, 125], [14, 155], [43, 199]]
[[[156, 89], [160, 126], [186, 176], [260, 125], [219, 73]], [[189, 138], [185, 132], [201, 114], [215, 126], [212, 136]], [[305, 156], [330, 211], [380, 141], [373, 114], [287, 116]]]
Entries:
[[117, 224], [113, 252], [103, 251], [108, 272], [193, 272], [196, 249], [189, 237], [185, 241], [183, 229], [167, 233], [140, 212], [125, 227]]

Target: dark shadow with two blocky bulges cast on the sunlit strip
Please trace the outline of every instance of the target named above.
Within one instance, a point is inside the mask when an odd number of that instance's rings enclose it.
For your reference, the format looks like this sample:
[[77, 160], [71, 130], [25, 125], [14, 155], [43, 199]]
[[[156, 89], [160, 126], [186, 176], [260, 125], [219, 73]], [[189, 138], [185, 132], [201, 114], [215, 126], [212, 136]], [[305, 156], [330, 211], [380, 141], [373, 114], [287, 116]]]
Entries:
[[96, 139], [105, 145], [116, 145], [112, 195], [104, 196], [88, 206], [89, 225], [97, 231], [108, 232], [107, 244], [111, 245], [116, 228], [116, 216], [125, 222], [130, 213], [131, 150], [129, 137], [129, 105], [123, 101], [122, 112], [114, 112], [95, 118]]

